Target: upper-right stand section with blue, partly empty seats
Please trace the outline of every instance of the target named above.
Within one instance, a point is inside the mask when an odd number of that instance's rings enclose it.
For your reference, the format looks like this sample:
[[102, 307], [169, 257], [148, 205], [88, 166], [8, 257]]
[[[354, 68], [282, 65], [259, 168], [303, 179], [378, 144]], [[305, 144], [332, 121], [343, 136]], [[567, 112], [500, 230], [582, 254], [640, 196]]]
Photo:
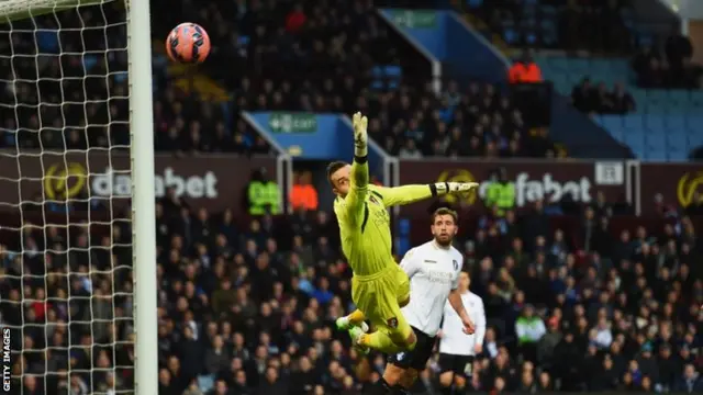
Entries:
[[[545, 78], [563, 95], [583, 79], [592, 81], [594, 102], [577, 106], [603, 114], [594, 122], [631, 147], [637, 158], [683, 161], [703, 145], [696, 133], [703, 98], [698, 90], [701, 66], [690, 61], [694, 48], [681, 35], [676, 19], [643, 22], [643, 10], [634, 10], [628, 1], [511, 4], [470, 0], [465, 7], [486, 22], [486, 35], [498, 32], [507, 45], [587, 50], [588, 56], [542, 55], [537, 61]], [[584, 30], [592, 34], [581, 34]], [[607, 102], [621, 90], [634, 103], [613, 109], [617, 105]], [[604, 91], [610, 99], [599, 98]], [[609, 115], [613, 113], [616, 115]]]

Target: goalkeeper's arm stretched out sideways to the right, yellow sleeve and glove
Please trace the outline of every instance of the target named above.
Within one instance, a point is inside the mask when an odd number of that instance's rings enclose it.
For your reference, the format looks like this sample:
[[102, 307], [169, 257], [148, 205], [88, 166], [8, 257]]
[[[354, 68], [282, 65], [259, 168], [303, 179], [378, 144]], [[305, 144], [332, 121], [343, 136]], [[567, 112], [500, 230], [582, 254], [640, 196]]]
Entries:
[[477, 189], [477, 182], [436, 182], [431, 184], [412, 184], [394, 188], [373, 187], [372, 193], [389, 206], [415, 203], [429, 198], [443, 196], [448, 193], [468, 192]]

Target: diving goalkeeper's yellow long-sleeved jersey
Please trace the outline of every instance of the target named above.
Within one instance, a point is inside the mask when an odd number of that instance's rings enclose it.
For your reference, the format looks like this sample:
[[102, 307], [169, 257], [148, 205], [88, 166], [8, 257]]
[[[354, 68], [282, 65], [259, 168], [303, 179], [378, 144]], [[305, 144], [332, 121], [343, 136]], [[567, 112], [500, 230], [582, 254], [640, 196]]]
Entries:
[[355, 274], [369, 275], [397, 264], [388, 208], [431, 196], [429, 185], [370, 185], [368, 166], [352, 165], [349, 193], [335, 200], [334, 212], [339, 223], [342, 250]]

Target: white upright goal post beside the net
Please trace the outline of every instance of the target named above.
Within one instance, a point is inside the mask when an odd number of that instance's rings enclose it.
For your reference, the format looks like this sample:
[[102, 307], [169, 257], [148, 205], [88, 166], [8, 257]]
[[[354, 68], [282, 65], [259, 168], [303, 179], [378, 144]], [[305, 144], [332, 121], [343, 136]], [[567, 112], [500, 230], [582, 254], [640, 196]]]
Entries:
[[149, 0], [124, 0], [127, 8], [127, 76], [132, 160], [132, 249], [134, 278], [136, 395], [158, 394], [156, 196], [152, 26]]

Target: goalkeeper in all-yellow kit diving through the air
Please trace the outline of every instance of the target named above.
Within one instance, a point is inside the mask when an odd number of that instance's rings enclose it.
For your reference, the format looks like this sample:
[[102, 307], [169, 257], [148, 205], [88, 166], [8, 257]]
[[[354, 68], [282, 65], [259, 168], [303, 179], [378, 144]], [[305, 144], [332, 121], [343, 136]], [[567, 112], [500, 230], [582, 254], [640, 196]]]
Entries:
[[[339, 223], [342, 249], [354, 271], [352, 300], [357, 311], [337, 319], [337, 328], [349, 330], [352, 341], [364, 352], [412, 350], [415, 334], [401, 307], [410, 302], [410, 281], [391, 253], [390, 217], [387, 208], [447, 193], [468, 192], [476, 182], [438, 182], [425, 185], [382, 188], [369, 185], [367, 124], [354, 114], [354, 163], [335, 161], [327, 178], [337, 195], [334, 212]], [[376, 331], [367, 334], [369, 319]]]

